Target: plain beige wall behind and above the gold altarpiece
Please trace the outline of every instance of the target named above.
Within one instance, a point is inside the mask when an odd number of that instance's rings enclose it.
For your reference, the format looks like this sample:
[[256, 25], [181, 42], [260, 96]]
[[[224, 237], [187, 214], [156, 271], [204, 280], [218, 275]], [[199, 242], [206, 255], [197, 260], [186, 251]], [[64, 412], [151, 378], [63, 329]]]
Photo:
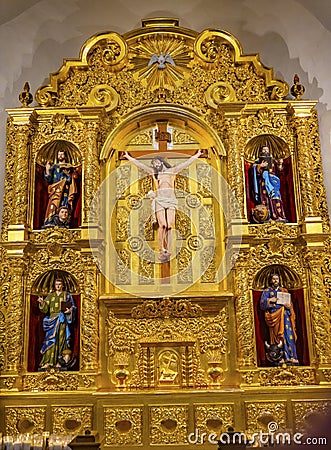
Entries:
[[[64, 58], [101, 31], [123, 34], [142, 18], [178, 17], [201, 31], [220, 28], [259, 53], [290, 85], [297, 73], [304, 98], [318, 100], [322, 156], [331, 209], [331, 8], [329, 0], [2, 0], [0, 2], [0, 210], [4, 184], [6, 108], [20, 106], [28, 81], [34, 94]], [[35, 106], [32, 103], [31, 106]]]

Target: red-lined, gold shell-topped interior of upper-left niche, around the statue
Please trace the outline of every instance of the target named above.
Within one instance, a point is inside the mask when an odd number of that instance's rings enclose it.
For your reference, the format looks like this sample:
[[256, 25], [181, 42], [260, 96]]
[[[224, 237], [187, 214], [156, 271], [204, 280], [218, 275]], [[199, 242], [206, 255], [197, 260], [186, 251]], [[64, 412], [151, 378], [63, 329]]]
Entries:
[[[41, 229], [45, 222], [45, 215], [49, 202], [49, 187], [45, 179], [46, 163], [58, 164], [58, 154], [64, 152], [66, 163], [73, 167], [75, 194], [72, 205], [70, 228], [77, 228], [81, 224], [81, 155], [79, 149], [70, 141], [54, 139], [44, 144], [38, 151], [35, 159], [35, 191], [33, 205], [33, 228]], [[60, 205], [61, 206], [61, 205]], [[55, 211], [56, 212], [56, 211]]]

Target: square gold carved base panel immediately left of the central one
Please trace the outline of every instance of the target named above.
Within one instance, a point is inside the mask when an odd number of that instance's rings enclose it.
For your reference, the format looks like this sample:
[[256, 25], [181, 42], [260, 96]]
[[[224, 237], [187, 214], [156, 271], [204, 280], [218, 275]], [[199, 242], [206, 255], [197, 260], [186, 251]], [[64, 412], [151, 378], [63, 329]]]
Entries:
[[105, 407], [105, 445], [141, 445], [142, 411], [141, 407]]

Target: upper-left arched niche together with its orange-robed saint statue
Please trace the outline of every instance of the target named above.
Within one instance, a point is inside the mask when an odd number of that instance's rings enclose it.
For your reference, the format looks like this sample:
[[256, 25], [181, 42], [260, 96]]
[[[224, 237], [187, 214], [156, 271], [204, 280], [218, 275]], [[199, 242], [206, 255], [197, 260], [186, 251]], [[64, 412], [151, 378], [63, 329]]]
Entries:
[[33, 228], [77, 228], [80, 223], [79, 150], [65, 140], [51, 141], [36, 158]]

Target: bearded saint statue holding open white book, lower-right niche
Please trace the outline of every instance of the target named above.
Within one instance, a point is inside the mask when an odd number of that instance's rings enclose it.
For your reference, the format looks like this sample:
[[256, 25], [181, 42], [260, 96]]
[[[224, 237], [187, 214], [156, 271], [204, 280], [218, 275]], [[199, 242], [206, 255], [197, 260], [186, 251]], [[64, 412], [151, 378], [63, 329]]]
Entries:
[[270, 344], [266, 343], [266, 346], [277, 345], [283, 350], [283, 357], [277, 361], [277, 365], [298, 365], [295, 313], [291, 294], [280, 286], [278, 274], [271, 276], [270, 287], [262, 293], [260, 307], [264, 311], [269, 328]]

